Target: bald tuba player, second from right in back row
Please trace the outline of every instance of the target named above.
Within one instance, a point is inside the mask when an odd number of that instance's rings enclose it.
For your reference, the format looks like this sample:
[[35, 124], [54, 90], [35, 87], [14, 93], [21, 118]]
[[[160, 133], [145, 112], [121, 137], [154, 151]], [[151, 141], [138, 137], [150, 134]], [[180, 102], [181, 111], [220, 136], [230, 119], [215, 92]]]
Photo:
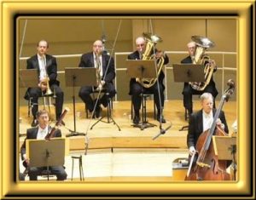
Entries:
[[[132, 54], [128, 55], [128, 60], [142, 60], [143, 59], [143, 53], [146, 49], [146, 41], [144, 37], [137, 37], [136, 39], [136, 51], [134, 51]], [[151, 52], [151, 54], [154, 54], [155, 52], [155, 58], [159, 59], [160, 57], [164, 57], [164, 65], [166, 65], [169, 62], [169, 58], [164, 52], [155, 49], [155, 51]], [[151, 55], [150, 54], [150, 55]], [[154, 85], [152, 85], [149, 88], [143, 87], [142, 84], [138, 83], [136, 78], [131, 78], [130, 80], [130, 92], [131, 95], [131, 101], [134, 106], [134, 113], [135, 116], [133, 118], [133, 123], [137, 124], [140, 122], [140, 107], [142, 104], [142, 93], [149, 92], [154, 94], [154, 102], [157, 107], [157, 120], [160, 123], [166, 123], [166, 119], [161, 115], [161, 109], [164, 107], [165, 97], [164, 97], [164, 90], [165, 85], [163, 83], [163, 80], [165, 78], [165, 74], [163, 71], [160, 71], [160, 75], [158, 77], [159, 82], [159, 89], [158, 89], [158, 83], [155, 82]], [[160, 93], [160, 94], [159, 94]]]

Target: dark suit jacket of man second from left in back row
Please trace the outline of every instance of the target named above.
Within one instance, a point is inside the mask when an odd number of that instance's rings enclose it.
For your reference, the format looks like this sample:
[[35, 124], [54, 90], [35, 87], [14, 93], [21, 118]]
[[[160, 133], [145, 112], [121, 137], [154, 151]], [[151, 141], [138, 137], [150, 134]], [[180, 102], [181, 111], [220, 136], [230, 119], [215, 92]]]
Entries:
[[[108, 62], [109, 62], [109, 66], [108, 66]], [[79, 67], [95, 67], [93, 52], [82, 55], [79, 63]], [[108, 71], [107, 71], [107, 67], [108, 67]], [[114, 62], [113, 62], [113, 58], [111, 58], [108, 54], [102, 54], [102, 70], [103, 70], [102, 78], [105, 77], [105, 74], [106, 74], [104, 81], [107, 83], [113, 83], [113, 78], [115, 77]]]

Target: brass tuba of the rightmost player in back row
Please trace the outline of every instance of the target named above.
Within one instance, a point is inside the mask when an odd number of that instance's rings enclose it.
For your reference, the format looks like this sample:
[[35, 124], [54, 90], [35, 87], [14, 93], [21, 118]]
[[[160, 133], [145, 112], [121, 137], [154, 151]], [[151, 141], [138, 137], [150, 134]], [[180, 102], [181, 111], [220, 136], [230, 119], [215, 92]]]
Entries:
[[196, 44], [195, 56], [193, 58], [193, 64], [199, 64], [204, 66], [205, 82], [189, 82], [192, 89], [202, 91], [210, 83], [215, 65], [212, 65], [210, 57], [205, 54], [208, 48], [214, 47], [214, 43], [207, 37], [192, 36], [192, 41]]

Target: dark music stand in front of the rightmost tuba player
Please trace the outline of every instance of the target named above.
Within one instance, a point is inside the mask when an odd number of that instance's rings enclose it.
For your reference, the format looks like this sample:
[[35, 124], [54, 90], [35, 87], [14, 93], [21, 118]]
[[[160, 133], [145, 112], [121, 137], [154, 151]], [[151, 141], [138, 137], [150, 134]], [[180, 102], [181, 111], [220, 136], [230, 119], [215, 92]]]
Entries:
[[[173, 64], [174, 82], [204, 82], [204, 66], [196, 64]], [[188, 129], [189, 126], [183, 126], [179, 131]]]

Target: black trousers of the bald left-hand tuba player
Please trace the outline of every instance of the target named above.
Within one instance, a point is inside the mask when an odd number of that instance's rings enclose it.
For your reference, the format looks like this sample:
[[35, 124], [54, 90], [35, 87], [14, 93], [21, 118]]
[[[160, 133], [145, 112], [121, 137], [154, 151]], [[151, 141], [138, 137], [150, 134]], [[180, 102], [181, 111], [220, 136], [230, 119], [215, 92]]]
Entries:
[[[154, 94], [154, 102], [157, 107], [158, 113], [160, 113], [160, 109], [164, 107], [164, 102], [165, 102], [165, 95], [164, 95], [164, 90], [165, 86], [162, 83], [159, 83], [159, 90], [158, 90], [158, 85], [157, 82], [154, 83], [153, 86], [150, 88], [144, 88], [140, 83], [132, 83], [131, 84], [131, 101], [134, 107], [135, 113], [138, 113], [141, 104], [142, 104], [142, 93], [143, 94]], [[160, 92], [159, 92], [160, 91]]]

